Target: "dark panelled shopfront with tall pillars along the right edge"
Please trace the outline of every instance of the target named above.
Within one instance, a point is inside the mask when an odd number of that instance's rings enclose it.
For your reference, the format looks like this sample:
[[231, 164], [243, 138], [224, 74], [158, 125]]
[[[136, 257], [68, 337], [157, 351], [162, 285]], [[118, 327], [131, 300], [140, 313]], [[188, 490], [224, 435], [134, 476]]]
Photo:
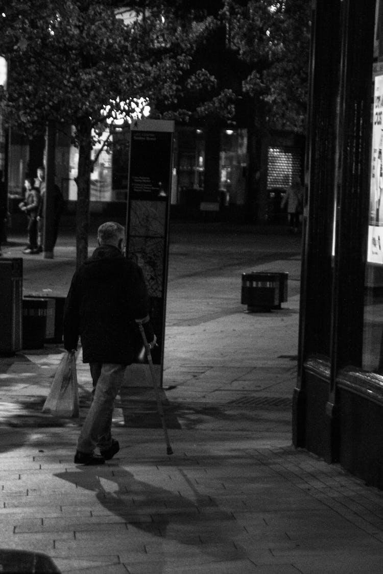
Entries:
[[383, 2], [312, 10], [293, 442], [383, 488]]

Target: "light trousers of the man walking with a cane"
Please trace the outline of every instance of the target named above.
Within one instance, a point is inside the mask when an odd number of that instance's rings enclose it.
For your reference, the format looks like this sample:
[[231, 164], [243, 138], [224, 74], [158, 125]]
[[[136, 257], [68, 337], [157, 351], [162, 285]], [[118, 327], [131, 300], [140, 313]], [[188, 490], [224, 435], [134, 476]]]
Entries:
[[90, 363], [93, 381], [93, 400], [82, 426], [77, 449], [92, 453], [110, 448], [114, 400], [122, 385], [126, 365], [115, 363]]

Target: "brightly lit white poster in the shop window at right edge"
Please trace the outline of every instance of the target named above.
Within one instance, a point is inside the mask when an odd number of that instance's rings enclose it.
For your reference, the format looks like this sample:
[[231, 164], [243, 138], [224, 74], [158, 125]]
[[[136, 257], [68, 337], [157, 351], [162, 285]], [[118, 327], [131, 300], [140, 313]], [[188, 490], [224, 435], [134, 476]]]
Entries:
[[383, 264], [383, 75], [374, 79], [367, 261]]

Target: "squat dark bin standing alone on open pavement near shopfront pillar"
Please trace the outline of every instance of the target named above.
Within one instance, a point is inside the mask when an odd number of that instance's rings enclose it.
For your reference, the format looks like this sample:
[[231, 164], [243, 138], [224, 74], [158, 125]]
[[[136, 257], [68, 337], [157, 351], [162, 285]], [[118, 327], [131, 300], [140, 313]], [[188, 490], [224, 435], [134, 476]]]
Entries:
[[280, 309], [287, 301], [287, 280], [288, 273], [242, 273], [241, 303], [249, 312]]

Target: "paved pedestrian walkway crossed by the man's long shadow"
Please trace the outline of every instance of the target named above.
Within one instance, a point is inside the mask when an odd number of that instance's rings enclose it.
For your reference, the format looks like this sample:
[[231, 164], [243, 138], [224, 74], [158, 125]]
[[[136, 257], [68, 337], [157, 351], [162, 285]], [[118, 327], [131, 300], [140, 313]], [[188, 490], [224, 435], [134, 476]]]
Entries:
[[[63, 348], [0, 359], [3, 549], [88, 574], [359, 574], [383, 571], [383, 492], [291, 445], [299, 241], [208, 230], [171, 242], [166, 454], [152, 391], [126, 377], [118, 455], [73, 463], [79, 427], [41, 413]], [[20, 238], [5, 247], [20, 257]], [[223, 253], [223, 255], [220, 255]], [[24, 292], [66, 294], [74, 248], [24, 259]], [[246, 313], [241, 273], [289, 272], [283, 309]], [[81, 416], [90, 397], [78, 358]]]

